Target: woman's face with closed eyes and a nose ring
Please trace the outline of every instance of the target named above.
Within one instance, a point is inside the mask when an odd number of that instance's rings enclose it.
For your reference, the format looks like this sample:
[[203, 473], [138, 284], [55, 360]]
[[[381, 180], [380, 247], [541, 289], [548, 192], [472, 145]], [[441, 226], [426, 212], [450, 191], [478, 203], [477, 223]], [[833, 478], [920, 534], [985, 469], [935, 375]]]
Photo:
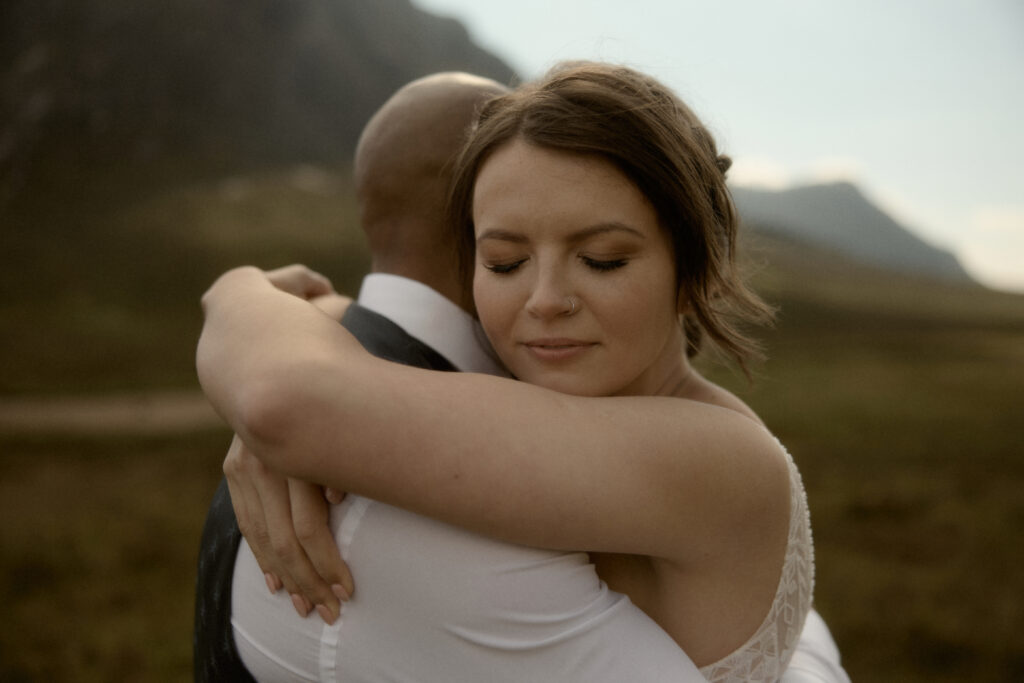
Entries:
[[638, 395], [682, 371], [671, 241], [615, 166], [514, 140], [481, 167], [473, 221], [477, 312], [520, 380]]

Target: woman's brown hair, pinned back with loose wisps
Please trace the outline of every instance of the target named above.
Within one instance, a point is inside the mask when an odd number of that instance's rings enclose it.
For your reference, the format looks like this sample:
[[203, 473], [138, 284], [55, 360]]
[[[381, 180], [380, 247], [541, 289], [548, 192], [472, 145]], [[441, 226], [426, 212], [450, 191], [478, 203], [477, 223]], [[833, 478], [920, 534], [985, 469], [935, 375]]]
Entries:
[[449, 201], [460, 264], [471, 286], [473, 187], [483, 163], [513, 139], [570, 154], [597, 155], [630, 178], [672, 237], [676, 276], [687, 302], [688, 352], [706, 334], [744, 370], [760, 355], [740, 326], [772, 310], [736, 267], [738, 218], [725, 184], [731, 161], [669, 88], [626, 67], [569, 62], [484, 104], [456, 162]]

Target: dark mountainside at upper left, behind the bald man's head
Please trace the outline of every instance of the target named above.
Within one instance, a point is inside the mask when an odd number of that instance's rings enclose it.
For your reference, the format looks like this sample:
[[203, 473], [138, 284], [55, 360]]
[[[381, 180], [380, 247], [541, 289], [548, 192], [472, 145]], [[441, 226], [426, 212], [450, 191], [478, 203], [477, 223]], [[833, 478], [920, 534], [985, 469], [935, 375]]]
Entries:
[[410, 0], [4, 0], [0, 188], [48, 160], [338, 163], [397, 87], [447, 70], [515, 78]]

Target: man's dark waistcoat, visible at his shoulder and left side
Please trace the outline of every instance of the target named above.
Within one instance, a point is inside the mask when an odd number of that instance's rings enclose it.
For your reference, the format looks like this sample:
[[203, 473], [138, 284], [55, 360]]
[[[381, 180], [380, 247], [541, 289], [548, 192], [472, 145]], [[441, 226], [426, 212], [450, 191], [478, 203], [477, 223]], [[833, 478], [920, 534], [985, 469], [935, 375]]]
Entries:
[[[428, 370], [454, 371], [437, 351], [383, 315], [352, 304], [341, 324], [362, 346], [382, 358]], [[231, 575], [242, 540], [227, 482], [221, 479], [203, 526], [196, 581], [193, 667], [197, 682], [254, 683], [231, 635]]]

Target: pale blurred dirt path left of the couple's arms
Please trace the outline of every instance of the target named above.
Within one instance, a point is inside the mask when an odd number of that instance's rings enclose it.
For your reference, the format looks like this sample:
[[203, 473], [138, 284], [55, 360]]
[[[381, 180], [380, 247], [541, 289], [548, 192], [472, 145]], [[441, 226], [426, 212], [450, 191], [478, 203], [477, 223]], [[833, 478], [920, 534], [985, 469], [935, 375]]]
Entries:
[[2, 434], [168, 434], [223, 424], [203, 394], [0, 398]]

